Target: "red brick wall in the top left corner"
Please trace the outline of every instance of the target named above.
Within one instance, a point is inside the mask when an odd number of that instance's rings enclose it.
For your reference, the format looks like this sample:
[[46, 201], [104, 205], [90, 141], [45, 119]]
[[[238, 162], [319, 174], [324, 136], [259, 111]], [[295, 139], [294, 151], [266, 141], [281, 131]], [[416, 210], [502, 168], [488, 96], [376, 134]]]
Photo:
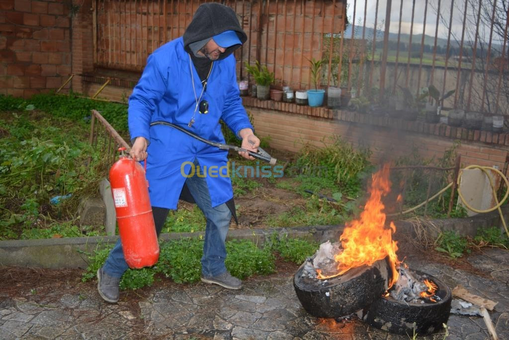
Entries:
[[0, 94], [58, 89], [71, 73], [69, 7], [63, 0], [0, 2]]

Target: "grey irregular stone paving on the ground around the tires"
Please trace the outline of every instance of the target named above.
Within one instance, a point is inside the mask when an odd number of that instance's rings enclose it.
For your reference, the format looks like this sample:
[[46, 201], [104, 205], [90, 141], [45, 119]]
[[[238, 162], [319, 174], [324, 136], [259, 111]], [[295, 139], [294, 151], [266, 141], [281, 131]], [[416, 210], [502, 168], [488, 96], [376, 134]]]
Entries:
[[[451, 289], [498, 301], [490, 312], [499, 339], [509, 339], [509, 251], [488, 249], [469, 256], [482, 277], [445, 265], [407, 258], [410, 268], [431, 274]], [[215, 285], [181, 284], [175, 290], [153, 288], [137, 301], [139, 315], [125, 302], [104, 303], [94, 283], [80, 294], [52, 292], [48, 301], [30, 294], [9, 298], [0, 292], [0, 339], [409, 339], [375, 329], [355, 317], [319, 319], [301, 307], [293, 277], [248, 279], [241, 291]], [[56, 297], [56, 299], [55, 299]], [[480, 317], [450, 315], [448, 339], [489, 339]], [[443, 339], [445, 331], [417, 339]]]

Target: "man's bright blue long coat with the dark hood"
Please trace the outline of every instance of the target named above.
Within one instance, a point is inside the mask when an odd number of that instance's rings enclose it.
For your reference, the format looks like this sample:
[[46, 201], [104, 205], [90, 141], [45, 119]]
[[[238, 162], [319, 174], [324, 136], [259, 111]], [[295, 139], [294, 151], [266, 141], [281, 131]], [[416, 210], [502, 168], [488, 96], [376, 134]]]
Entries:
[[[199, 7], [188, 30], [198, 27], [206, 34], [193, 34], [195, 39], [187, 39], [186, 45], [227, 30], [236, 31], [240, 40], [245, 42], [245, 33], [232, 9], [219, 5], [231, 11], [233, 16], [228, 13], [231, 20], [216, 21], [217, 15], [214, 16], [214, 11], [223, 10], [217, 5], [219, 4], [209, 3]], [[196, 20], [203, 21], [204, 18], [210, 22], [196, 24]], [[236, 22], [232, 22], [233, 19]], [[201, 98], [209, 102], [208, 113], [201, 114], [196, 111], [195, 122], [191, 127], [188, 127], [188, 123], [195, 110], [196, 98], [200, 97], [203, 87], [185, 49], [184, 39], [180, 37], [162, 45], [147, 59], [147, 66], [129, 97], [128, 122], [132, 140], [145, 137], [149, 141], [146, 175], [152, 206], [177, 208], [186, 175], [190, 174], [189, 171], [196, 171], [191, 167], [194, 159], [200, 163], [199, 174], [206, 178], [212, 206], [233, 198], [227, 165], [228, 151], [193, 139], [170, 126], [150, 126], [154, 121], [167, 121], [219, 143], [225, 142], [220, 119], [237, 136], [243, 128], [252, 129], [239, 95], [236, 61], [232, 52], [233, 49], [227, 49], [222, 58], [213, 62], [207, 89]]]

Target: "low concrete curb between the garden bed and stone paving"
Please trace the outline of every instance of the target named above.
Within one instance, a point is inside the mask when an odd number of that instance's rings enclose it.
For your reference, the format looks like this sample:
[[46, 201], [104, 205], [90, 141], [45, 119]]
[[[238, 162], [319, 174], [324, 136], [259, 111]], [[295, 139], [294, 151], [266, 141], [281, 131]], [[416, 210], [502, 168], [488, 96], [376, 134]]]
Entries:
[[[509, 206], [502, 208], [504, 219], [509, 216]], [[432, 236], [441, 230], [456, 230], [464, 236], [475, 236], [478, 228], [491, 226], [501, 227], [497, 211], [479, 214], [468, 218], [421, 221], [421, 226], [430, 230]], [[415, 235], [415, 223], [411, 221], [395, 221], [399, 234]], [[257, 241], [260, 244], [272, 233], [288, 234], [289, 237], [310, 237], [320, 243], [327, 240], [338, 241], [344, 225], [304, 226], [273, 229], [231, 229], [228, 239], [244, 239]], [[163, 233], [163, 241], [180, 238], [200, 237], [204, 232]], [[40, 268], [87, 268], [87, 254], [101, 249], [107, 244], [117, 242], [118, 236], [82, 237], [68, 239], [12, 240], [0, 241], [0, 266], [40, 267]]]

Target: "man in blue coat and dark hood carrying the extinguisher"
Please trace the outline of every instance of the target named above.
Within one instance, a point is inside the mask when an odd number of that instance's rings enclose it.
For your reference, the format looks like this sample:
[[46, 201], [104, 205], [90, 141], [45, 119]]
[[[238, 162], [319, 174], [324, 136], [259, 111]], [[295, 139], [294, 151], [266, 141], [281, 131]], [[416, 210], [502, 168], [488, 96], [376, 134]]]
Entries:
[[[233, 56], [246, 40], [231, 8], [217, 3], [201, 5], [182, 37], [149, 56], [129, 97], [128, 110], [133, 142], [130, 155], [136, 161], [147, 160], [157, 234], [168, 211], [177, 208], [179, 197], [194, 201], [207, 220], [201, 279], [228, 289], [242, 287], [242, 281], [224, 266], [224, 242], [235, 214], [228, 151], [167, 125], [151, 126], [151, 122], [177, 124], [205, 139], [224, 143], [221, 119], [242, 140], [242, 148], [257, 151], [260, 140], [254, 136], [242, 106]], [[253, 159], [246, 152], [240, 154]], [[98, 291], [105, 301], [119, 300], [120, 278], [127, 269], [119, 240], [97, 272]]]

